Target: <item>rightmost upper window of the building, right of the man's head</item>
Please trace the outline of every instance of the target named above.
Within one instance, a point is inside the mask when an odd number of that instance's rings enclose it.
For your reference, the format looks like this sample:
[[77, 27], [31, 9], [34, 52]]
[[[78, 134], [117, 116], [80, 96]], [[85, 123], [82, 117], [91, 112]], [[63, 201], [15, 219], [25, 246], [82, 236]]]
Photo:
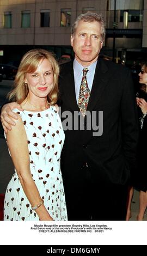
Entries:
[[[124, 10], [120, 11], [120, 22], [123, 21]], [[128, 22], [143, 21], [143, 14], [141, 10], [128, 10]]]

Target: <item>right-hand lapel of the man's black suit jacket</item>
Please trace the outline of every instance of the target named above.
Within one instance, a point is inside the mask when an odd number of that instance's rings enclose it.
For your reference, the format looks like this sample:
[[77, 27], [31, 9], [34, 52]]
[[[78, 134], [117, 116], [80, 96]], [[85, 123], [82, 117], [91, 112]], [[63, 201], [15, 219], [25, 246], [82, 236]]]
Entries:
[[92, 111], [94, 106], [96, 105], [96, 102], [101, 100], [102, 93], [105, 90], [105, 87], [107, 86], [109, 80], [108, 76], [106, 77], [107, 71], [108, 68], [105, 62], [103, 62], [103, 60], [99, 58], [97, 60], [94, 81], [90, 93], [87, 111]]

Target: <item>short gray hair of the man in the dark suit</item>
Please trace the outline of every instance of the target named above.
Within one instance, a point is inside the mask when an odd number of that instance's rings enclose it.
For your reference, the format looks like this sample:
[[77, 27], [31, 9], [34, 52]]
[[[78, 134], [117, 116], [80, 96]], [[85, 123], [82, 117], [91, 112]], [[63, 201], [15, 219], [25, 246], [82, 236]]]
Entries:
[[101, 14], [97, 14], [97, 13], [85, 13], [85, 14], [81, 14], [77, 17], [76, 21], [74, 22], [74, 24], [71, 27], [71, 35], [74, 35], [76, 32], [76, 29], [78, 27], [78, 23], [79, 21], [84, 21], [84, 22], [93, 22], [93, 21], [97, 21], [100, 22], [101, 24], [101, 41], [103, 41], [103, 39], [105, 39], [105, 23], [103, 20], [103, 17]]

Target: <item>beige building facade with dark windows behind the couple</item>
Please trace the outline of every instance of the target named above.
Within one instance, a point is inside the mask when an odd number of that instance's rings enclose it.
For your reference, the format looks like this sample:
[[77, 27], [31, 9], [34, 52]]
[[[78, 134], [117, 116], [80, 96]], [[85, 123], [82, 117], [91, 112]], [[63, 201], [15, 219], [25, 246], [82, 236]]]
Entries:
[[19, 60], [35, 47], [60, 57], [72, 54], [70, 29], [87, 11], [106, 21], [102, 53], [119, 60], [141, 58], [147, 49], [147, 0], [1, 0], [0, 61]]

